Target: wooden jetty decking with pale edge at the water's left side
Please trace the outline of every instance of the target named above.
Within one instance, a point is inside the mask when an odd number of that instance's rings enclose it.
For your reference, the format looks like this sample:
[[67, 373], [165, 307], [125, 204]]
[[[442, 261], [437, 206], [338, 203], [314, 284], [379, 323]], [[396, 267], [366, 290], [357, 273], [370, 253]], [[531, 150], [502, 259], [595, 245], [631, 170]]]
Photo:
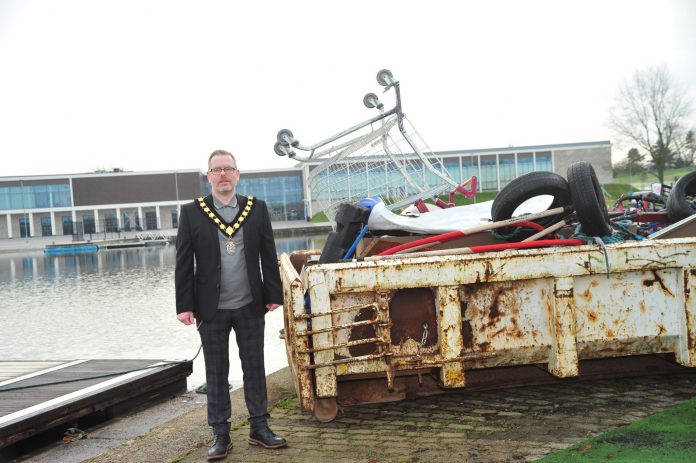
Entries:
[[[161, 363], [143, 359], [0, 361], [0, 448], [95, 412], [113, 417], [186, 390], [192, 363]], [[61, 383], [66, 380], [77, 381]]]

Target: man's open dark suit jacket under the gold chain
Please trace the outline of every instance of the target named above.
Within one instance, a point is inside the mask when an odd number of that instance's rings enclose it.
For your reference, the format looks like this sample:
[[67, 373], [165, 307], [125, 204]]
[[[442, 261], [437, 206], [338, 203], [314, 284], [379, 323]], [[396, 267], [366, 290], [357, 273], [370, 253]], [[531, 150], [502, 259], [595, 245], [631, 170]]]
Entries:
[[[206, 202], [212, 206], [211, 195]], [[240, 211], [246, 203], [246, 196], [237, 195]], [[254, 198], [242, 229], [251, 295], [259, 315], [263, 316], [266, 304], [283, 303], [278, 256], [265, 202]], [[218, 230], [201, 210], [198, 201], [182, 206], [176, 236], [174, 277], [177, 313], [193, 311], [196, 319], [210, 320], [217, 310], [221, 269]]]

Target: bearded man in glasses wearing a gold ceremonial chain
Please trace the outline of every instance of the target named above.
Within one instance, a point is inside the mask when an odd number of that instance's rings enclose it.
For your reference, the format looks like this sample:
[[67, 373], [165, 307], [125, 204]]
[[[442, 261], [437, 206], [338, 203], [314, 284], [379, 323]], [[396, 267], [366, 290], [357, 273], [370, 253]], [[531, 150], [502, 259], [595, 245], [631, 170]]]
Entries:
[[264, 315], [282, 303], [275, 242], [266, 203], [236, 194], [239, 169], [232, 153], [208, 158], [212, 195], [181, 208], [176, 237], [176, 312], [196, 323], [203, 344], [208, 424], [215, 439], [208, 460], [225, 458], [231, 404], [227, 376], [234, 329], [249, 410], [249, 443], [275, 449], [287, 442], [268, 427], [263, 360]]

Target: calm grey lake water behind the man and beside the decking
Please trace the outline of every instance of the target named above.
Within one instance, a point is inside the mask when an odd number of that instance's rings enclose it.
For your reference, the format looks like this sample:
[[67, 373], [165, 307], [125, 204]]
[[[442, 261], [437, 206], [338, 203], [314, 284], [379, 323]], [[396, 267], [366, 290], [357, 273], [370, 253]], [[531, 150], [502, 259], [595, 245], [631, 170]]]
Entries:
[[[321, 248], [326, 235], [279, 238], [278, 253]], [[176, 319], [174, 246], [47, 256], [0, 255], [0, 352], [3, 360], [83, 358], [191, 359], [196, 329]], [[278, 332], [281, 309], [266, 316], [266, 372], [287, 365]], [[241, 385], [230, 351], [230, 381]], [[189, 388], [205, 382], [203, 355]]]

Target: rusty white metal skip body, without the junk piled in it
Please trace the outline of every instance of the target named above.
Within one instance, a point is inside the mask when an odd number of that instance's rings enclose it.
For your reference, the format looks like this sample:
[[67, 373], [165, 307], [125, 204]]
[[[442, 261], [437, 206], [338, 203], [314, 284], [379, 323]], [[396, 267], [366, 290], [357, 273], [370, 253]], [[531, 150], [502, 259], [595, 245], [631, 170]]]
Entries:
[[300, 273], [298, 253], [280, 256], [285, 344], [300, 407], [320, 421], [338, 405], [466, 388], [467, 376], [495, 367], [570, 378], [580, 360], [643, 354], [696, 366], [696, 238]]

